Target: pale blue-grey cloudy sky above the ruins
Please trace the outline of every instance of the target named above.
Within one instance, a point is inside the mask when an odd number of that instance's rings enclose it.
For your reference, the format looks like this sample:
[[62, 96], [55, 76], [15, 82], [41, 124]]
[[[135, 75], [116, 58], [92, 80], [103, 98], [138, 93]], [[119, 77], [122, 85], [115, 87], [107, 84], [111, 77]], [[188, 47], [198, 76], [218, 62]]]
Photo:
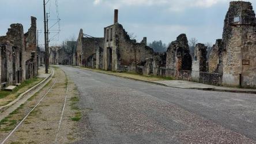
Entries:
[[[46, 0], [48, 1], [48, 0]], [[256, 0], [251, 0], [256, 6]], [[37, 28], [43, 30], [43, 0], [0, 0], [0, 35], [6, 35], [12, 23], [30, 26], [30, 16], [37, 17]], [[47, 3], [50, 19], [56, 19], [55, 0]], [[180, 33], [199, 43], [213, 43], [220, 39], [228, 0], [58, 0], [62, 43], [78, 36], [80, 28], [94, 37], [103, 37], [104, 27], [113, 23], [114, 9], [119, 9], [119, 23], [127, 32], [134, 33], [138, 41], [174, 41]], [[51, 21], [54, 24], [55, 21]], [[51, 30], [56, 30], [54, 26]], [[52, 33], [53, 35], [53, 33]], [[43, 33], [39, 38], [43, 43]]]

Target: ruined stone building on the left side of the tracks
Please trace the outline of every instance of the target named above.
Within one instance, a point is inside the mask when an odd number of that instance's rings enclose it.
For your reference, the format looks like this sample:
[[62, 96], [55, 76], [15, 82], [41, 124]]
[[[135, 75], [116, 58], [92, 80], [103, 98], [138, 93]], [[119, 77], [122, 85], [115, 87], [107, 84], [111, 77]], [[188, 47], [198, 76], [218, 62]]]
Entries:
[[11, 24], [6, 36], [0, 37], [1, 88], [17, 85], [37, 75], [36, 18], [25, 33], [21, 24]]

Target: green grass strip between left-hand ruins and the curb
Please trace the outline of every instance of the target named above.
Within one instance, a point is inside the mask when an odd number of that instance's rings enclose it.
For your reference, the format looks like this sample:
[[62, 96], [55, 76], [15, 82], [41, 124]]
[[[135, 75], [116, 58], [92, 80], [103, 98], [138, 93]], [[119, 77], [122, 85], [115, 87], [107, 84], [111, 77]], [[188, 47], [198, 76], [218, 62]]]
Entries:
[[[0, 91], [0, 98], [5, 98], [6, 96], [8, 96], [9, 94], [14, 94], [14, 93], [17, 93], [18, 90], [20, 90], [21, 88], [24, 88], [25, 86], [28, 86], [30, 84], [33, 84], [35, 82], [39, 82], [39, 81], [42, 81], [42, 78], [37, 78], [37, 77], [34, 77], [34, 78], [31, 78], [31, 79], [27, 79], [25, 80], [24, 82], [22, 82], [21, 85], [17, 86], [13, 91], [7, 91], [7, 90], [1, 90]], [[37, 83], [38, 84], [38, 83]], [[34, 85], [31, 85], [28, 87], [28, 89], [32, 88]], [[25, 90], [24, 90], [25, 92]], [[18, 93], [16, 95], [16, 97], [20, 96], [21, 93]]]

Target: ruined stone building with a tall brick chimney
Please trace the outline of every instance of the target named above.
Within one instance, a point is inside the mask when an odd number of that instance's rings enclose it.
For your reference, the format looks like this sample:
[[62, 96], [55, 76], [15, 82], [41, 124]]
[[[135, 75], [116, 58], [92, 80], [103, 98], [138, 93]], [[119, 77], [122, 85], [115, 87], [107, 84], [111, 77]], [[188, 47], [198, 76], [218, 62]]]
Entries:
[[126, 71], [127, 66], [150, 58], [153, 54], [153, 49], [146, 46], [146, 38], [141, 43], [130, 39], [118, 23], [118, 10], [115, 10], [114, 24], [104, 28], [103, 69]]

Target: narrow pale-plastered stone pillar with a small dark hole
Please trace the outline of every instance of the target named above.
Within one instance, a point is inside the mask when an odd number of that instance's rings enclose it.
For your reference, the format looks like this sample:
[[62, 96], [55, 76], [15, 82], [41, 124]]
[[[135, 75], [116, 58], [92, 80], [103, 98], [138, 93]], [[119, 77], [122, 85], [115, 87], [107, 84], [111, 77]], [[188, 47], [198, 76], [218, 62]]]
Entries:
[[194, 54], [191, 77], [193, 81], [199, 81], [199, 73], [207, 71], [207, 47], [204, 44], [196, 44]]

